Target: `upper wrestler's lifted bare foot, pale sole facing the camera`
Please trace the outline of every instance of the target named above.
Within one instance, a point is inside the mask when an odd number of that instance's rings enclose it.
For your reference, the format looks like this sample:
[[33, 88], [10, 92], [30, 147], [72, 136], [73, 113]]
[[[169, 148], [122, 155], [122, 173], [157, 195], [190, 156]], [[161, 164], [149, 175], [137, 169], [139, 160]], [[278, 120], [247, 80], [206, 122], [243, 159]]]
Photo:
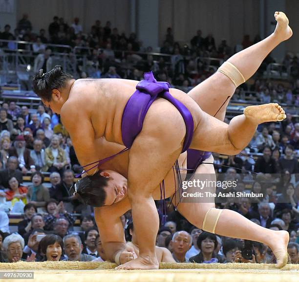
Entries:
[[282, 121], [286, 118], [283, 108], [277, 103], [246, 107], [244, 115], [255, 124]]

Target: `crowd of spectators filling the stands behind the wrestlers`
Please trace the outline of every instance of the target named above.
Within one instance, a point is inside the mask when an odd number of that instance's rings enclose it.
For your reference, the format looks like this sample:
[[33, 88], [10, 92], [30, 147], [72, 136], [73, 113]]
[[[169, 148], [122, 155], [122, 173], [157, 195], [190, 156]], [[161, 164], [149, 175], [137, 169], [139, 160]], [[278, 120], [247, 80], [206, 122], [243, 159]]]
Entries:
[[[72, 47], [88, 47], [87, 68], [75, 70], [80, 77], [128, 78], [140, 80], [144, 71], [152, 70], [158, 80], [169, 81], [186, 92], [212, 75], [215, 65], [212, 60], [226, 60], [238, 51], [260, 39], [251, 42], [245, 36], [240, 46], [232, 48], [223, 40], [218, 47], [212, 34], [202, 36], [200, 30], [183, 47], [174, 41], [171, 28], [167, 33], [160, 52], [168, 54], [170, 60], [153, 55], [146, 57], [136, 52], [151, 52], [144, 48], [136, 35], [127, 37], [96, 21], [89, 33], [83, 32], [80, 19], [71, 25], [63, 18], [54, 17], [49, 24], [48, 35], [41, 29], [36, 35], [27, 15], [24, 15], [14, 31], [6, 25], [0, 38], [34, 42], [32, 51], [37, 54], [34, 68], [52, 68], [52, 50], [45, 44], [66, 44]], [[8, 43], [6, 47], [9, 48]], [[11, 45], [12, 46], [12, 45]], [[31, 48], [31, 47], [30, 47]], [[84, 49], [78, 49], [82, 54]], [[271, 57], [266, 63], [273, 62]], [[245, 91], [252, 91], [252, 101], [269, 103], [284, 101], [299, 105], [299, 77], [297, 58], [286, 55], [283, 62], [286, 69], [292, 66], [293, 80], [287, 83], [256, 78], [255, 83], [242, 85], [236, 89], [235, 100], [244, 100]], [[265, 65], [261, 66], [263, 71]], [[297, 73], [296, 73], [297, 71]], [[51, 110], [39, 106], [29, 113], [26, 106], [21, 108], [15, 102], [2, 103], [0, 108], [0, 198], [5, 199], [7, 211], [23, 212], [18, 234], [9, 235], [9, 218], [0, 212], [0, 261], [18, 260], [81, 260], [104, 261], [105, 251], [93, 211], [74, 199], [69, 189], [74, 184], [75, 174], [80, 167], [68, 132], [60, 117]], [[253, 202], [248, 198], [224, 199], [216, 203], [218, 208], [228, 208], [266, 228], [287, 230], [290, 234], [288, 252], [292, 263], [299, 262], [299, 168], [298, 168], [299, 123], [292, 114], [281, 123], [269, 123], [258, 127], [249, 146], [237, 156], [223, 158], [214, 154], [216, 174], [226, 179], [250, 180], [249, 190], [263, 193]], [[255, 157], [255, 156], [258, 157]], [[49, 173], [49, 183], [44, 181], [44, 173]], [[238, 175], [242, 173], [242, 175]], [[23, 176], [30, 175], [30, 184], [23, 183]], [[246, 183], [238, 184], [232, 191], [246, 191]], [[4, 201], [4, 202], [5, 202]], [[20, 210], [21, 209], [21, 210]], [[76, 217], [80, 213], [80, 230], [75, 230]], [[252, 242], [254, 255], [246, 260], [242, 255], [244, 240], [214, 235], [192, 226], [173, 205], [168, 205], [167, 222], [161, 225], [156, 245], [164, 254], [171, 254], [177, 262], [252, 262], [273, 263], [275, 257], [265, 245]], [[122, 218], [126, 239], [137, 244], [134, 239], [130, 214]], [[135, 243], [134, 243], [135, 242]], [[165, 249], [164, 249], [165, 248]], [[166, 251], [167, 249], [167, 251]], [[158, 251], [157, 251], [158, 252]]]

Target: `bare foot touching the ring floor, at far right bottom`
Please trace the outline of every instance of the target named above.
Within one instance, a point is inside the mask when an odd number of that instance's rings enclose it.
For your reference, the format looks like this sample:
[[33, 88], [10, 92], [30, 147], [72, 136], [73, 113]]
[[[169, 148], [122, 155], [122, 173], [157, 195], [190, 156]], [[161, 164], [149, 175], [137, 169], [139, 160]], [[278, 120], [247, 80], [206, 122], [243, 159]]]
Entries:
[[273, 251], [274, 256], [276, 257], [277, 263], [276, 268], [281, 268], [285, 266], [288, 262], [288, 242], [289, 242], [289, 233], [287, 231], [274, 231], [275, 236], [271, 238], [271, 244], [269, 245]]

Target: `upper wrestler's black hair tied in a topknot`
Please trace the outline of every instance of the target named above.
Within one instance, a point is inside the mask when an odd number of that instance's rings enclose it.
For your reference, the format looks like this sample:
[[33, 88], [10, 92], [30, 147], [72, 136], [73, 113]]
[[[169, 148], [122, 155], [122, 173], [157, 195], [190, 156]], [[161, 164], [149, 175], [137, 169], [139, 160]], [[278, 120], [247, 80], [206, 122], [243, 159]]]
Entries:
[[63, 88], [66, 81], [70, 79], [72, 79], [72, 75], [64, 72], [60, 65], [55, 65], [53, 69], [46, 73], [43, 73], [43, 69], [40, 69], [33, 77], [33, 90], [40, 98], [50, 102], [52, 90]]

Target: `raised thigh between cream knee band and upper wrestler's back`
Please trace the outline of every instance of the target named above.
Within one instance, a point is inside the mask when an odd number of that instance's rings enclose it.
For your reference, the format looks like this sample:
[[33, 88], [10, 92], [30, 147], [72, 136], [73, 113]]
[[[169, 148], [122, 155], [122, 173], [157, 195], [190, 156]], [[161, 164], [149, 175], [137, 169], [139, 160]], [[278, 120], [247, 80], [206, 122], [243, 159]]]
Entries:
[[[214, 116], [228, 96], [235, 93], [235, 85], [223, 73], [217, 71], [188, 92], [199, 107]], [[227, 103], [223, 107], [227, 107]]]

